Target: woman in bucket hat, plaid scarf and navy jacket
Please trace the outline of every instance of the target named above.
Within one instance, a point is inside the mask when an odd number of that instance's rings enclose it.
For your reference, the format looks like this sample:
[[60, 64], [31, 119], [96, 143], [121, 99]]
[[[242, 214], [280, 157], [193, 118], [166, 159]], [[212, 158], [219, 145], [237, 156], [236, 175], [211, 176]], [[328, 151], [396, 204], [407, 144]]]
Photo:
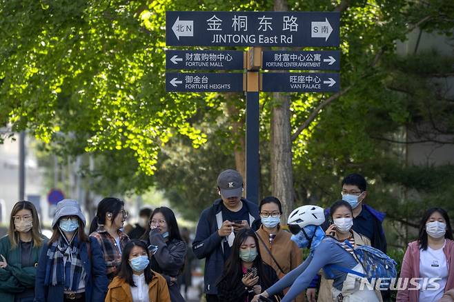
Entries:
[[101, 248], [83, 231], [85, 217], [79, 203], [57, 203], [54, 230], [39, 256], [34, 302], [102, 301], [108, 279]]

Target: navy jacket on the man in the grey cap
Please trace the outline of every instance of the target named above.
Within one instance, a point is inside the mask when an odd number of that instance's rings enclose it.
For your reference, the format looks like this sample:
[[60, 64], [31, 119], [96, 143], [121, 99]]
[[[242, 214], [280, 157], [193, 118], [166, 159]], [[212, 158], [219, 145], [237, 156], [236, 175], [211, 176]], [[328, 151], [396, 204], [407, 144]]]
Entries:
[[[259, 206], [251, 203], [246, 199], [241, 199], [249, 212], [249, 225], [253, 230], [257, 230], [259, 221]], [[206, 294], [217, 294], [217, 282], [222, 272], [224, 272], [224, 251], [223, 242], [225, 237], [219, 236], [219, 223], [222, 224], [222, 200], [217, 199], [210, 208], [201, 212], [195, 239], [193, 242], [193, 251], [198, 259], [205, 258], [204, 273], [204, 292]]]

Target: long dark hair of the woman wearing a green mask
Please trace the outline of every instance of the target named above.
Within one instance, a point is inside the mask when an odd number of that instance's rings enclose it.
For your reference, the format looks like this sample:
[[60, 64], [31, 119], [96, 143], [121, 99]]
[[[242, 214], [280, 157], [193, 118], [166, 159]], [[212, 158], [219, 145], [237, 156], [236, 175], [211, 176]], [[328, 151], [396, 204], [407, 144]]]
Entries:
[[226, 265], [224, 266], [224, 272], [221, 276], [221, 279], [219, 279], [219, 282], [228, 280], [233, 284], [235, 281], [241, 280], [241, 278], [243, 277], [241, 259], [239, 258], [239, 249], [241, 248], [241, 244], [243, 244], [248, 237], [253, 237], [255, 241], [255, 247], [257, 248], [257, 256], [253, 261], [253, 266], [257, 268], [257, 274], [259, 276], [261, 284], [265, 285], [265, 287], [268, 288], [273, 284], [269, 277], [266, 275], [264, 261], [261, 260], [259, 239], [257, 239], [255, 232], [253, 230], [250, 230], [249, 228], [240, 230], [239, 232], [237, 232], [237, 234], [235, 234], [235, 240], [233, 241], [233, 245], [230, 250], [230, 256], [228, 257]]

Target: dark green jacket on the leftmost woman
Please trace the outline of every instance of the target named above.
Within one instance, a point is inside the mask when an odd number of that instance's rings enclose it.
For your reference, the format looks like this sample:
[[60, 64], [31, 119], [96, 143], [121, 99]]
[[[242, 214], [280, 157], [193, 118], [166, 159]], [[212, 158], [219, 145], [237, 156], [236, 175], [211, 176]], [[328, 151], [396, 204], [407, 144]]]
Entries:
[[[46, 244], [47, 239], [43, 240]], [[0, 239], [0, 254], [6, 259], [6, 268], [0, 268], [0, 301], [14, 302], [14, 295], [23, 292], [27, 288], [34, 288], [34, 277], [36, 275], [37, 264], [41, 247], [32, 246], [32, 263], [34, 265], [22, 268], [21, 249], [19, 247], [11, 249], [8, 235]], [[3, 261], [0, 256], [0, 261]]]

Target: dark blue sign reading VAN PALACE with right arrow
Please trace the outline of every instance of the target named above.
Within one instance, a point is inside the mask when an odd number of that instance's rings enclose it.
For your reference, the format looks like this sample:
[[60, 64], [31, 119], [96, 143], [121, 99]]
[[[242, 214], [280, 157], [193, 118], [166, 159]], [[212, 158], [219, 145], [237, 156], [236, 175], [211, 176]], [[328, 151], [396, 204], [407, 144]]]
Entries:
[[340, 89], [338, 73], [265, 72], [261, 77], [261, 91], [337, 92]]

